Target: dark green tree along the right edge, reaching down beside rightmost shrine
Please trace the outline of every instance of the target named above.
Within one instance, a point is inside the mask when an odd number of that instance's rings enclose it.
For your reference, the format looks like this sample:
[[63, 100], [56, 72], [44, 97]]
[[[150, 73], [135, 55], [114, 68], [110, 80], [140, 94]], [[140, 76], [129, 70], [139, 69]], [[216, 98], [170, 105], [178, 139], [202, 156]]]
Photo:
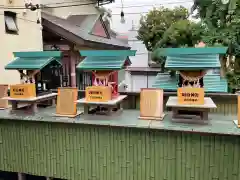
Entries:
[[[230, 89], [240, 89], [240, 0], [229, 0], [223, 4], [221, 0], [195, 0], [192, 11], [197, 10], [206, 24], [206, 32], [202, 36], [205, 43], [212, 46], [216, 43], [227, 46], [229, 67], [226, 57], [221, 59], [222, 72], [225, 71]], [[233, 62], [234, 59], [234, 62]]]

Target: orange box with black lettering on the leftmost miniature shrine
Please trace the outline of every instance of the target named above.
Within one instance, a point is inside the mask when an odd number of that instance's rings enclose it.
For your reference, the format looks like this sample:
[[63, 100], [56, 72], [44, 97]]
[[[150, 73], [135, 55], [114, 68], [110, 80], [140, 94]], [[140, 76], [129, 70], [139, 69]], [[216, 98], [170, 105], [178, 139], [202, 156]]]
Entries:
[[36, 85], [35, 84], [16, 84], [10, 86], [11, 98], [33, 98], [36, 97]]

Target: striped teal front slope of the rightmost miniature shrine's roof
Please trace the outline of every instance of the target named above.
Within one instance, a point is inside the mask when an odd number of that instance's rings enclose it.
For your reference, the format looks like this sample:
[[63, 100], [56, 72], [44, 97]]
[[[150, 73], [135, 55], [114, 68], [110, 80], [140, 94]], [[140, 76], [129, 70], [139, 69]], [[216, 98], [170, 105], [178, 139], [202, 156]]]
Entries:
[[218, 54], [171, 55], [167, 56], [165, 63], [165, 68], [177, 70], [212, 69], [220, 66]]

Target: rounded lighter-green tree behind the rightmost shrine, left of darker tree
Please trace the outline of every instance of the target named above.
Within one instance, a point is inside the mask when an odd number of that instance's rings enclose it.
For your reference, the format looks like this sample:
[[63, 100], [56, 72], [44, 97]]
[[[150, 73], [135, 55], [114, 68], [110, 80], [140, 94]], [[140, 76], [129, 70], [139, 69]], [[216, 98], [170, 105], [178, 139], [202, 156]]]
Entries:
[[152, 60], [164, 67], [165, 57], [159, 57], [154, 49], [161, 47], [194, 46], [203, 33], [201, 24], [188, 20], [189, 12], [180, 6], [174, 9], [153, 9], [140, 20], [137, 38], [153, 51]]

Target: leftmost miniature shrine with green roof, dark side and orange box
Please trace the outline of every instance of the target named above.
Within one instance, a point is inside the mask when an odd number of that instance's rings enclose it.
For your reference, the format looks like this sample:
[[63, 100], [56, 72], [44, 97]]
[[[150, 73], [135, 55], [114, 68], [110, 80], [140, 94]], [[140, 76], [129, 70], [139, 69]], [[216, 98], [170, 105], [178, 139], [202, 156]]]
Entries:
[[10, 85], [10, 97], [3, 98], [11, 102], [12, 110], [17, 110], [21, 106], [36, 112], [38, 104], [48, 105], [49, 101], [54, 104], [57, 93], [51, 92], [52, 81], [60, 86], [61, 52], [15, 52], [13, 54], [15, 59], [7, 64], [5, 69], [18, 70], [21, 83]]

